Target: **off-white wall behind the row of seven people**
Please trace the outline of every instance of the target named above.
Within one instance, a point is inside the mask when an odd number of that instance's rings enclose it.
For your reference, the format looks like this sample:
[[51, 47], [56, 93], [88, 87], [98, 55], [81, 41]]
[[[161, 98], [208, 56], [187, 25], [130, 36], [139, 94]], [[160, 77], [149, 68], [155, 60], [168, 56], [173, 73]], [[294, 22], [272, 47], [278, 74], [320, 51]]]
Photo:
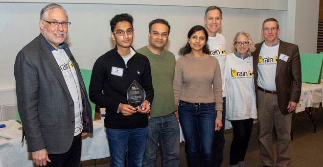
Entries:
[[[11, 3], [13, 1], [15, 3]], [[40, 33], [39, 13], [46, 5], [46, 3], [40, 3], [41, 1], [43, 2], [43, 0], [11, 0], [11, 2], [0, 0], [0, 90], [15, 88], [13, 75], [15, 57], [23, 46]], [[77, 3], [74, 3], [76, 1]], [[192, 0], [166, 0], [161, 2], [162, 5], [157, 5], [160, 4], [157, 0], [149, 2], [138, 0], [137, 4], [145, 5], [134, 5], [131, 4], [134, 3], [133, 0], [118, 0], [117, 3], [121, 4], [99, 4], [115, 3], [115, 0], [76, 1], [54, 0], [54, 2], [65, 2], [61, 5], [68, 11], [71, 22], [67, 42], [72, 47], [74, 56], [83, 69], [92, 69], [94, 61], [100, 55], [114, 48], [115, 44], [110, 37], [109, 21], [115, 14], [129, 13], [134, 17], [134, 48], [148, 45], [148, 23], [151, 20], [156, 18], [167, 20], [171, 25], [171, 31], [166, 48], [177, 54], [179, 48], [186, 42], [188, 30], [193, 25], [203, 25], [206, 6], [211, 2], [214, 3], [214, 0], [205, 0], [199, 4]], [[305, 3], [305, 1], [296, 0], [295, 3]], [[306, 8], [304, 17], [313, 18], [314, 15], [317, 17], [318, 1], [306, 1], [308, 9]], [[166, 2], [169, 5], [165, 4]], [[287, 6], [287, 0], [272, 0], [270, 5], [268, 5], [268, 0], [243, 2], [241, 0], [229, 0], [228, 2], [216, 0], [215, 2], [223, 10], [223, 25], [220, 32], [227, 39], [228, 53], [231, 52], [232, 38], [238, 31], [249, 32], [255, 43], [262, 41], [261, 24], [269, 17], [274, 17], [280, 22], [281, 34], [279, 38], [289, 41], [287, 27], [290, 25], [287, 23], [289, 23], [288, 10], [290, 9]], [[299, 12], [299, 10], [296, 11]], [[297, 17], [302, 18], [302, 13], [304, 12], [300, 11], [294, 18], [296, 20], [295, 32], [308, 28], [307, 22], [312, 24], [310, 19], [298, 22]], [[315, 22], [317, 28], [317, 18]], [[309, 48], [308, 46], [316, 46], [316, 34], [317, 30], [311, 30], [301, 36], [300, 38], [307, 39], [306, 42], [299, 42], [300, 40], [295, 36], [295, 42], [300, 46], [300, 52], [304, 52], [302, 49]], [[314, 37], [315, 39], [313, 39]], [[315, 51], [316, 49], [313, 52]]]

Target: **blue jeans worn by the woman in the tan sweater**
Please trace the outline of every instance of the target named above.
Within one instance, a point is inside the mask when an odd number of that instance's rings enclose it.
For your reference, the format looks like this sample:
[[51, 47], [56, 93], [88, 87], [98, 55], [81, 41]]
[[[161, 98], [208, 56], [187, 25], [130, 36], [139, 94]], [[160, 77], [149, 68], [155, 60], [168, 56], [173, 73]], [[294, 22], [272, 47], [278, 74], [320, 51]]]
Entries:
[[185, 137], [188, 167], [211, 167], [215, 128], [215, 103], [179, 102], [179, 119]]

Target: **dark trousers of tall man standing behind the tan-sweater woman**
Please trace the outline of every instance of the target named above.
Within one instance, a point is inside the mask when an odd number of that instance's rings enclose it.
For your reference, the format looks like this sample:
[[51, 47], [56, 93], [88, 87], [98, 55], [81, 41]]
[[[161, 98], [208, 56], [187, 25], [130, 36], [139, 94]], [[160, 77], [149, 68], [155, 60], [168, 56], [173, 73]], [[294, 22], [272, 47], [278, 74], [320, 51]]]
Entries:
[[222, 124], [222, 128], [214, 133], [212, 167], [220, 167], [223, 161], [223, 147], [226, 142], [224, 138], [224, 129], [226, 124], [226, 97], [223, 97]]

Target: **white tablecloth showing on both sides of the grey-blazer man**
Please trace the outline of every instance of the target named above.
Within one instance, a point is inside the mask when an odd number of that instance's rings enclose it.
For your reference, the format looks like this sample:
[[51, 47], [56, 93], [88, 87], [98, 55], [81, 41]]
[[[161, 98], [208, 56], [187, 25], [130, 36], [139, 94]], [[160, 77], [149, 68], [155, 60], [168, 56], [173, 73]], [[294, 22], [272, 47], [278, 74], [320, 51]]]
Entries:
[[[104, 118], [103, 118], [104, 119]], [[82, 137], [81, 160], [99, 159], [109, 157], [109, 146], [107, 135], [105, 134], [103, 119], [93, 121], [93, 133]], [[14, 125], [10, 128], [8, 124]], [[3, 121], [5, 128], [0, 128], [0, 161], [3, 167], [33, 167], [31, 154], [27, 152], [27, 142], [22, 140], [21, 125], [15, 120]], [[19, 129], [20, 127], [20, 129]], [[8, 131], [10, 128], [10, 132]], [[4, 133], [19, 133], [19, 137], [7, 139], [2, 136], [8, 136]]]

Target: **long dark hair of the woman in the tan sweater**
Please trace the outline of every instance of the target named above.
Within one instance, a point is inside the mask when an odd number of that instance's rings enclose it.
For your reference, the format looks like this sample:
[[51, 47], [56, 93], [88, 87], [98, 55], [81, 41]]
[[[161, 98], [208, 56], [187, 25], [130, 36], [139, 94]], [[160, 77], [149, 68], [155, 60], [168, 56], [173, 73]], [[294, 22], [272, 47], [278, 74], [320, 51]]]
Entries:
[[[195, 25], [193, 26], [187, 33], [187, 38], [191, 38], [192, 34], [196, 31], [200, 31], [200, 30], [203, 30], [204, 34], [205, 34], [205, 46], [203, 46], [202, 50], [203, 50], [203, 53], [206, 53], [206, 54], [209, 54], [210, 53], [210, 50], [208, 48], [208, 32], [207, 30], [201, 26], [201, 25]], [[178, 54], [180, 56], [183, 56], [185, 54], [188, 54], [192, 51], [192, 48], [189, 46], [188, 44], [188, 41], [186, 42], [185, 46], [183, 48], [180, 48], [180, 50], [178, 51]]]

